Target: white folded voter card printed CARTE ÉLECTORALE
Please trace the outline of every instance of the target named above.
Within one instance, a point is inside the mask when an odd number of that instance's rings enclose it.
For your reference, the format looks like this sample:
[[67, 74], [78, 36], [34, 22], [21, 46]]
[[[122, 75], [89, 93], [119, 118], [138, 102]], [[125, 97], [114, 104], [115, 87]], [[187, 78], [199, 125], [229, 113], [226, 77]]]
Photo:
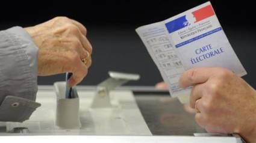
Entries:
[[210, 2], [162, 22], [136, 29], [160, 70], [172, 97], [189, 95], [178, 80], [193, 67], [223, 67], [236, 75], [246, 75]]

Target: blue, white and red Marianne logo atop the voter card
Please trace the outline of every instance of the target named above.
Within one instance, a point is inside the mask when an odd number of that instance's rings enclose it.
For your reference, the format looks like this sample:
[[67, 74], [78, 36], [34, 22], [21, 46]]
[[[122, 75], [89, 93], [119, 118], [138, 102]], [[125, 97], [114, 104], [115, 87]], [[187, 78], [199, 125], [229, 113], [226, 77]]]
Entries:
[[199, 10], [193, 11], [192, 14], [181, 16], [178, 19], [166, 23], [165, 25], [168, 32], [172, 33], [186, 26], [189, 26], [190, 23], [196, 23], [214, 15], [215, 13], [213, 7], [211, 7], [211, 5], [207, 5], [203, 8], [200, 8]]

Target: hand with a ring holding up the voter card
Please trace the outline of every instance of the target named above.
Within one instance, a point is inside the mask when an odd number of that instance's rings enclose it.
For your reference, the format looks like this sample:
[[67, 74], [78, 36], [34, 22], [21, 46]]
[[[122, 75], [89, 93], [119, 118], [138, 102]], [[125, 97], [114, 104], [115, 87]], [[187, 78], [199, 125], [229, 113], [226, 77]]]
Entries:
[[190, 86], [190, 106], [199, 111], [199, 126], [256, 142], [256, 91], [242, 78], [225, 68], [192, 68], [180, 78], [180, 87]]

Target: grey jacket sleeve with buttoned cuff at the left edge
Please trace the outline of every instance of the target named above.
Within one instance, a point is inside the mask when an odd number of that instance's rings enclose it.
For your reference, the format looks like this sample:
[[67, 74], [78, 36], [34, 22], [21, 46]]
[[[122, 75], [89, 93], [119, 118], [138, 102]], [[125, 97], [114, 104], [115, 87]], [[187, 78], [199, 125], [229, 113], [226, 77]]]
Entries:
[[0, 121], [22, 122], [40, 106], [38, 48], [21, 27], [0, 31]]

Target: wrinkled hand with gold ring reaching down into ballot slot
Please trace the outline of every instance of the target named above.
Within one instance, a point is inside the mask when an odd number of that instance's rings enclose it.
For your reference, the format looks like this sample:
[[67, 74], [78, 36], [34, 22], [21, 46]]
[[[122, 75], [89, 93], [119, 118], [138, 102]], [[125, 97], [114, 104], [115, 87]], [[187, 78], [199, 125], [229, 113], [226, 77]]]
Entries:
[[[92, 62], [92, 46], [81, 23], [67, 17], [55, 17], [25, 29], [39, 47], [39, 76], [73, 73], [68, 81], [70, 87], [83, 80]], [[86, 59], [86, 63], [81, 59]]]

